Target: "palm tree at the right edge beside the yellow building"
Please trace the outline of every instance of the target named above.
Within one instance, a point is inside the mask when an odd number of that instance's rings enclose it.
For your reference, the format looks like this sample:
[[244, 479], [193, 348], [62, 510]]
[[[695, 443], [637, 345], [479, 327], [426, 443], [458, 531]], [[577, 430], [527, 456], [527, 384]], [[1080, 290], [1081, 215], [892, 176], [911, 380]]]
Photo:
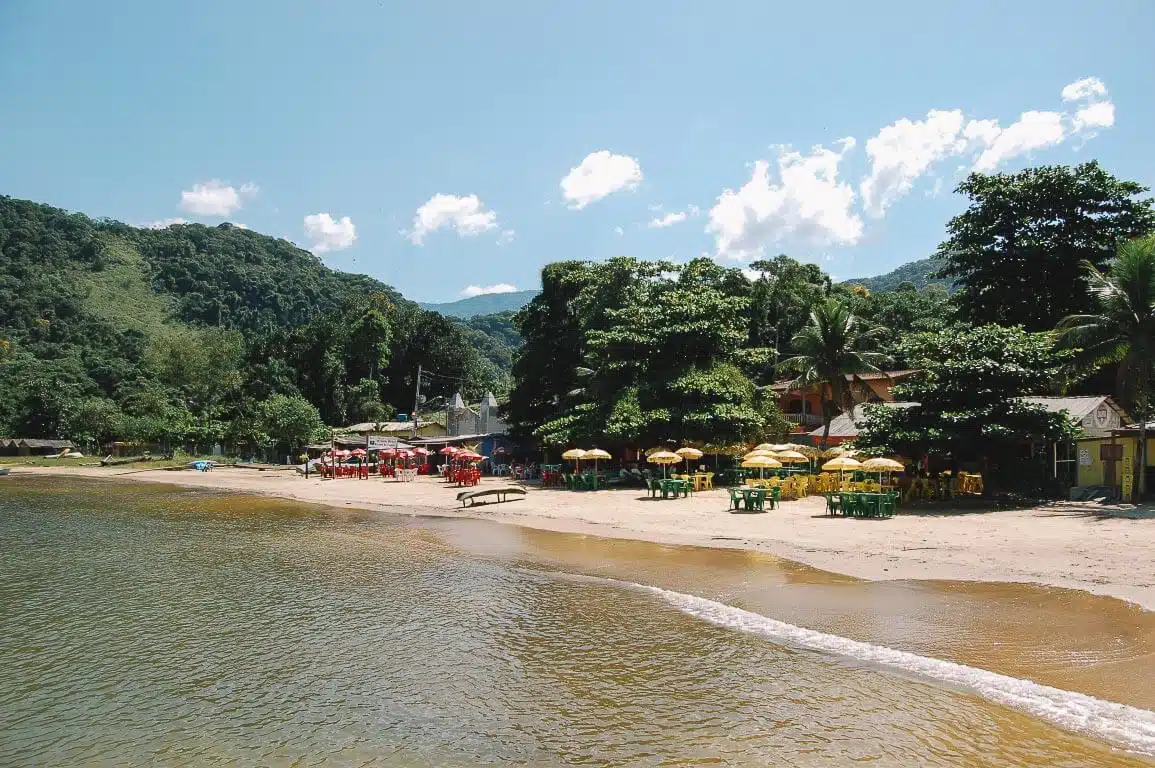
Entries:
[[1088, 261], [1097, 314], [1073, 314], [1059, 321], [1059, 344], [1081, 350], [1085, 361], [1117, 364], [1115, 394], [1139, 415], [1139, 495], [1146, 493], [1147, 419], [1155, 379], [1155, 236], [1119, 246], [1104, 275]]

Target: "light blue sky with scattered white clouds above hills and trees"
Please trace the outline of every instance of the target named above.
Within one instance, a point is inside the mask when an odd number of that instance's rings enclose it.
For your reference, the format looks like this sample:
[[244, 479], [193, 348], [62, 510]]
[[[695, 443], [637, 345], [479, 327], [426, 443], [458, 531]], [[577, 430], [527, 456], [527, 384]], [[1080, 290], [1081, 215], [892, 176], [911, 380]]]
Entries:
[[929, 255], [974, 167], [1155, 184], [1153, 29], [1150, 0], [16, 0], [0, 193], [232, 221], [419, 300], [623, 254], [847, 278]]

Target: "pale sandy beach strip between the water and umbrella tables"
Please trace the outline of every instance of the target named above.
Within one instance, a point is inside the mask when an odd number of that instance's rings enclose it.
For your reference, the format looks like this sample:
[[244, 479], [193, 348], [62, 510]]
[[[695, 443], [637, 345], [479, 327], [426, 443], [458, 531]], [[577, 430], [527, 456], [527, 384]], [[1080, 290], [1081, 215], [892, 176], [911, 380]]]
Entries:
[[[468, 516], [553, 531], [664, 544], [758, 550], [860, 579], [1027, 582], [1082, 589], [1155, 610], [1155, 514], [1058, 502], [1033, 509], [906, 512], [889, 520], [828, 517], [811, 497], [766, 514], [731, 514], [725, 491], [650, 500], [644, 491], [532, 486], [524, 499], [462, 509], [461, 489], [432, 478], [396, 483], [308, 479], [295, 471], [213, 472], [13, 468], [274, 495], [393, 514]], [[480, 487], [507, 485], [485, 478]]]

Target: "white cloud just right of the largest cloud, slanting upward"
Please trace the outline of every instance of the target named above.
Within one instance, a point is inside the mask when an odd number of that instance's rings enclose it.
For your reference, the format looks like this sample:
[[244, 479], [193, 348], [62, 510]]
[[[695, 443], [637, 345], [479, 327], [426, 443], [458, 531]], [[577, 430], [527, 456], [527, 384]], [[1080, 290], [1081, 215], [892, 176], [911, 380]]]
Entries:
[[931, 110], [925, 120], [902, 118], [867, 140], [871, 171], [858, 186], [866, 212], [882, 216], [933, 163], [961, 151], [962, 131], [962, 110]]

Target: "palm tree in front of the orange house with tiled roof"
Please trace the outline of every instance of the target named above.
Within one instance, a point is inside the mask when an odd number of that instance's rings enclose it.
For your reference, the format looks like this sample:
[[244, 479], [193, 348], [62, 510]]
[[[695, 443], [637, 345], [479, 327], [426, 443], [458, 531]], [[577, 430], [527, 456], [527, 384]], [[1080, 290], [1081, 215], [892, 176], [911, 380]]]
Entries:
[[877, 372], [891, 363], [875, 351], [881, 330], [864, 327], [848, 303], [827, 298], [811, 310], [810, 320], [790, 341], [797, 355], [783, 360], [780, 370], [796, 376], [791, 389], [819, 388], [824, 448], [836, 409], [854, 408], [847, 374]]

